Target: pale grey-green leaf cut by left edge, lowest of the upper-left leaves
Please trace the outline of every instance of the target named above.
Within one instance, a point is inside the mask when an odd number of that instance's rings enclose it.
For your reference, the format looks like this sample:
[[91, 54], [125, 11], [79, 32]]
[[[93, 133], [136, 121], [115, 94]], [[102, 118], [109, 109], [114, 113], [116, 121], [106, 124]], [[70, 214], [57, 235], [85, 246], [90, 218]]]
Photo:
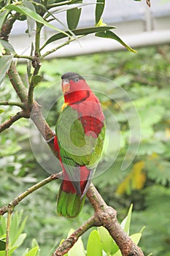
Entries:
[[4, 55], [0, 57], [0, 85], [3, 82], [6, 72], [10, 67], [12, 55]]

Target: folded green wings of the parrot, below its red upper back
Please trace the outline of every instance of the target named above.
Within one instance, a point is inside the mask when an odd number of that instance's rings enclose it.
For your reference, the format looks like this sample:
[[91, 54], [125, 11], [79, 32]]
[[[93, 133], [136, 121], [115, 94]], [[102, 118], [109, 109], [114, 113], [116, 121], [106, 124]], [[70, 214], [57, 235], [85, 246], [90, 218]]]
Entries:
[[97, 138], [85, 135], [77, 111], [69, 106], [64, 108], [58, 118], [56, 135], [60, 147], [61, 161], [79, 195], [81, 195], [80, 166], [85, 165], [90, 170], [90, 176], [92, 176], [93, 170], [96, 169], [101, 157], [104, 132], [105, 128], [103, 127]]

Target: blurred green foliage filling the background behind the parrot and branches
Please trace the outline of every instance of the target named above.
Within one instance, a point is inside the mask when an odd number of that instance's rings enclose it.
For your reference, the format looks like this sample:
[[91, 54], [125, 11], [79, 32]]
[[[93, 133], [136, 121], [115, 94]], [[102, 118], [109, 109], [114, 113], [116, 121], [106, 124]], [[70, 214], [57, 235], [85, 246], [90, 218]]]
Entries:
[[[18, 64], [18, 71], [26, 81], [26, 65]], [[109, 170], [95, 178], [93, 183], [109, 206], [117, 210], [120, 221], [127, 214], [130, 204], [134, 204], [131, 233], [138, 232], [145, 226], [139, 244], [145, 255], [152, 252], [155, 256], [169, 256], [170, 46], [139, 48], [138, 53], [120, 51], [45, 61], [40, 70], [42, 81], [35, 90], [36, 98], [45, 91], [45, 97], [40, 100], [44, 113], [48, 105], [53, 105], [55, 98], [61, 97], [60, 79], [67, 71], [79, 72], [81, 75], [97, 75], [112, 80], [112, 83], [105, 84], [102, 80], [95, 82], [92, 87], [100, 91], [98, 97], [104, 109], [109, 109], [119, 124], [120, 151]], [[114, 82], [118, 84], [118, 89]], [[128, 93], [130, 99], [133, 99], [134, 105], [131, 100], [121, 98], [122, 89]], [[3, 100], [16, 98], [8, 80], [1, 85], [0, 94]], [[131, 115], [134, 106], [139, 114], [141, 141], [134, 161], [122, 171], [121, 165], [131, 135], [131, 127], [123, 111]], [[47, 116], [47, 121], [53, 129], [59, 109], [58, 105], [53, 105]], [[18, 108], [9, 106], [1, 107], [1, 121], [5, 121], [17, 110]], [[36, 162], [35, 152], [32, 152], [30, 147], [28, 128], [28, 120], [20, 120], [1, 134], [1, 206], [49, 175]], [[114, 132], [114, 127], [109, 126], [109, 129]], [[41, 147], [39, 135], [35, 133], [31, 136], [38, 141], [38, 147]], [[133, 143], [135, 147], [136, 141], [134, 140], [132, 145]], [[104, 155], [101, 167], [106, 162], [112, 162], [115, 154], [114, 142], [112, 144], [113, 149], [111, 148], [107, 151], [109, 153]], [[44, 153], [40, 157], [51, 170], [48, 156]], [[58, 168], [59, 165], [56, 163], [57, 171]], [[56, 195], [59, 185], [60, 181], [53, 181], [26, 197], [17, 206], [18, 211], [23, 209], [23, 217], [28, 216], [25, 228], [27, 238], [23, 250], [30, 246], [32, 238], [36, 238], [41, 248], [41, 255], [48, 255], [61, 238], [66, 238], [71, 227], [77, 228], [93, 214], [93, 208], [86, 200], [80, 216], [76, 219], [58, 217]], [[87, 238], [88, 233], [82, 236], [85, 243]]]

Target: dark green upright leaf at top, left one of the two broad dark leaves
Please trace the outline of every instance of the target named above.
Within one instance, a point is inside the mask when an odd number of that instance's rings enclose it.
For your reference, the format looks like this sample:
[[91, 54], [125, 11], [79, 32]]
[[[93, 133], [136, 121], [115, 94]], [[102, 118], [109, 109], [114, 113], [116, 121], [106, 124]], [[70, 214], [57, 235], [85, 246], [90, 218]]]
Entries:
[[82, 9], [78, 9], [76, 7], [66, 12], [66, 20], [67, 20], [67, 25], [69, 29], [73, 30], [77, 28], [77, 25], [80, 20], [81, 11]]

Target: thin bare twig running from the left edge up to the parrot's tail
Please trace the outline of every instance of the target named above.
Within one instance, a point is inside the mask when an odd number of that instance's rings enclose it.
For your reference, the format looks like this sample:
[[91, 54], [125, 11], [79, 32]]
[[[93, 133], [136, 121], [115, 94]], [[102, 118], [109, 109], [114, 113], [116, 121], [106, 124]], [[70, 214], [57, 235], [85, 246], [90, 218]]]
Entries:
[[43, 187], [46, 184], [48, 184], [51, 181], [54, 181], [55, 179], [58, 179], [58, 178], [62, 178], [62, 172], [53, 174], [50, 177], [45, 178], [43, 181], [39, 181], [39, 183], [35, 184], [34, 186], [30, 187], [29, 189], [26, 189], [25, 192], [18, 195], [18, 197], [16, 197], [14, 200], [12, 200], [12, 202], [9, 203], [8, 206], [2, 206], [0, 208], [0, 216], [7, 213], [9, 211], [9, 209], [12, 209], [12, 211], [13, 211], [15, 206], [17, 206], [18, 203], [20, 203], [20, 201], [22, 201], [25, 197], [27, 197], [28, 195], [30, 195], [32, 192], [36, 191], [40, 187]]

